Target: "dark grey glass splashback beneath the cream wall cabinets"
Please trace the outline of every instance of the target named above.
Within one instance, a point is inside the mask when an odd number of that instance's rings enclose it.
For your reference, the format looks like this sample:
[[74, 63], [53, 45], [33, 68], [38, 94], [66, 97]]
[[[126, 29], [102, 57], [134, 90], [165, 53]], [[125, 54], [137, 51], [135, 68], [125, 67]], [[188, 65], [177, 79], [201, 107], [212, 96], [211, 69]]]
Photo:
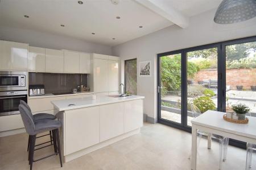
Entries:
[[87, 74], [28, 73], [28, 84], [43, 84], [45, 93], [72, 92], [77, 85], [87, 87]]

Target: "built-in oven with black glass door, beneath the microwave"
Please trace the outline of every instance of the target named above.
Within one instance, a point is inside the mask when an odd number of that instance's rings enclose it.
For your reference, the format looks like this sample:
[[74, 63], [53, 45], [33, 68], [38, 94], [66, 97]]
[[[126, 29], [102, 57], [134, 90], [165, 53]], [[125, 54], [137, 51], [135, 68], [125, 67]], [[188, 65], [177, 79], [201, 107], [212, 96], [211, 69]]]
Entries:
[[0, 116], [19, 114], [20, 100], [27, 102], [27, 95], [1, 96]]

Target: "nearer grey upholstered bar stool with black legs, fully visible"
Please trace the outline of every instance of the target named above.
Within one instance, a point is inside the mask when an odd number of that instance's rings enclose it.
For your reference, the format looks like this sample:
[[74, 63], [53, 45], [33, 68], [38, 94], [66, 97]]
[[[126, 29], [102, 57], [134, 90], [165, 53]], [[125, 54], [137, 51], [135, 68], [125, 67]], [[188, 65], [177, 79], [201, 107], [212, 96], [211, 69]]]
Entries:
[[[59, 127], [61, 127], [60, 121], [55, 121], [51, 119], [41, 119], [39, 121], [33, 121], [33, 115], [30, 110], [24, 105], [19, 105], [19, 112], [22, 117], [22, 121], [26, 132], [30, 135], [30, 148], [28, 152], [28, 160], [30, 164], [30, 169], [32, 170], [32, 164], [34, 161], [45, 159], [49, 156], [57, 155], [59, 153], [60, 157], [60, 165], [62, 167], [61, 161], [61, 151], [60, 151], [60, 138], [59, 138]], [[36, 148], [35, 149], [35, 139], [36, 135], [42, 132], [52, 131], [53, 136], [53, 144], [54, 144], [54, 154], [42, 157], [40, 159], [34, 160], [34, 151], [42, 149]], [[51, 146], [51, 145], [50, 145]], [[47, 146], [46, 146], [47, 147]]]

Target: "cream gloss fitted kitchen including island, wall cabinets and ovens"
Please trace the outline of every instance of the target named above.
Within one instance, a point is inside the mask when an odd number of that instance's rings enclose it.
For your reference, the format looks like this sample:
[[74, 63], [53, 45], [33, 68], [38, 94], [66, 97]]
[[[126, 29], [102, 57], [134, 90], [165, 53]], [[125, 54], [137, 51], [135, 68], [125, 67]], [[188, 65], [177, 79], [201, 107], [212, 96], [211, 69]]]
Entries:
[[119, 57], [3, 40], [0, 55], [0, 136], [27, 130], [21, 101], [61, 122], [64, 163], [140, 132], [144, 97], [125, 94]]

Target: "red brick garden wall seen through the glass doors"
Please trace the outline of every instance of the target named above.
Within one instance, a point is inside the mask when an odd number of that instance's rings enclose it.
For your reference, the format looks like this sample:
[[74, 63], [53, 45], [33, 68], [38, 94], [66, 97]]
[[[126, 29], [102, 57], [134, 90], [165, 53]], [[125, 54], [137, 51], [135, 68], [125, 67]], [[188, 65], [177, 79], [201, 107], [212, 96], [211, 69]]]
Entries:
[[[206, 69], [196, 73], [193, 81], [217, 80], [217, 69]], [[227, 69], [226, 85], [231, 89], [236, 89], [237, 85], [242, 85], [243, 89], [249, 90], [251, 85], [256, 85], [256, 68], [253, 69]]]

